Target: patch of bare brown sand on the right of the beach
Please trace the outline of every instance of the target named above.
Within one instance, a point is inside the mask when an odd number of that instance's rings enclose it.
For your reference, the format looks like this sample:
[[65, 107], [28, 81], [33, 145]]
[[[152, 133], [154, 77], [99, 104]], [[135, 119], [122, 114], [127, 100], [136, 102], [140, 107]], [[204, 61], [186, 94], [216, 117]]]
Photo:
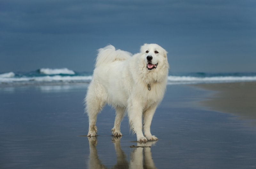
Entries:
[[191, 86], [215, 92], [199, 101], [207, 109], [229, 113], [238, 116], [239, 119], [256, 120], [256, 82], [208, 83]]

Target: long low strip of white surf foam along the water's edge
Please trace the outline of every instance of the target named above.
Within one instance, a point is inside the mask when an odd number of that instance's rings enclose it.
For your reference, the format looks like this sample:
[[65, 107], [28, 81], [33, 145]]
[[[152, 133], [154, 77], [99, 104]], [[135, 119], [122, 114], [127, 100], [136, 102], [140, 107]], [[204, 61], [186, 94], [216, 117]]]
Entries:
[[[62, 72], [63, 73], [63, 72]], [[44, 75], [44, 76], [21, 76], [15, 77], [13, 72], [0, 74], [0, 84], [61, 84], [61, 83], [88, 83], [92, 80], [92, 75]], [[256, 76], [168, 76], [168, 84], [195, 84], [195, 83], [221, 83], [256, 81]]]

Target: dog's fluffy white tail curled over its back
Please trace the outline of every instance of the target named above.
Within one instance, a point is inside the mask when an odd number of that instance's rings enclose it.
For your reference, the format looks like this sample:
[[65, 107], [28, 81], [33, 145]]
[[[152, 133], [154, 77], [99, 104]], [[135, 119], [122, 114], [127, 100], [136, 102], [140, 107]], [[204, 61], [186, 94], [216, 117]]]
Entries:
[[116, 60], [127, 60], [131, 56], [132, 54], [129, 52], [120, 49], [116, 50], [114, 46], [108, 45], [98, 50], [95, 67], [99, 67], [102, 64], [112, 63]]

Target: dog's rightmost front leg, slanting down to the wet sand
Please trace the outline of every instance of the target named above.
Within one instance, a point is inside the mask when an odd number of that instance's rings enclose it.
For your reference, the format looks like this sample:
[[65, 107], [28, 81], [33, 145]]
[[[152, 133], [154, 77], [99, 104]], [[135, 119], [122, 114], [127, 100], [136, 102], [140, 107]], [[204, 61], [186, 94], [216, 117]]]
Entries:
[[144, 135], [148, 140], [158, 140], [158, 138], [156, 136], [152, 136], [150, 132], [150, 125], [155, 114], [156, 107], [157, 104], [152, 105], [146, 111], [143, 112], [143, 130]]

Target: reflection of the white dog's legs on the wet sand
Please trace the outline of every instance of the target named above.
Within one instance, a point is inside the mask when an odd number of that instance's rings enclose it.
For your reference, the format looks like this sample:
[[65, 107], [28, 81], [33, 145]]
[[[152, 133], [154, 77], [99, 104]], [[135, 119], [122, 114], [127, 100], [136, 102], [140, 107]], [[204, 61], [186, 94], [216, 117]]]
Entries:
[[[138, 142], [137, 145], [132, 145], [130, 153], [130, 162], [126, 157], [124, 151], [121, 149], [120, 144], [121, 137], [112, 137], [112, 143], [115, 146], [116, 151], [116, 165], [112, 168], [156, 168], [152, 155], [151, 155], [151, 146], [157, 142]], [[89, 146], [90, 146], [90, 156], [88, 162], [88, 168], [98, 169], [98, 168], [107, 168], [102, 164], [99, 159], [97, 152], [97, 137], [88, 137]], [[144, 159], [144, 160], [143, 160]]]

